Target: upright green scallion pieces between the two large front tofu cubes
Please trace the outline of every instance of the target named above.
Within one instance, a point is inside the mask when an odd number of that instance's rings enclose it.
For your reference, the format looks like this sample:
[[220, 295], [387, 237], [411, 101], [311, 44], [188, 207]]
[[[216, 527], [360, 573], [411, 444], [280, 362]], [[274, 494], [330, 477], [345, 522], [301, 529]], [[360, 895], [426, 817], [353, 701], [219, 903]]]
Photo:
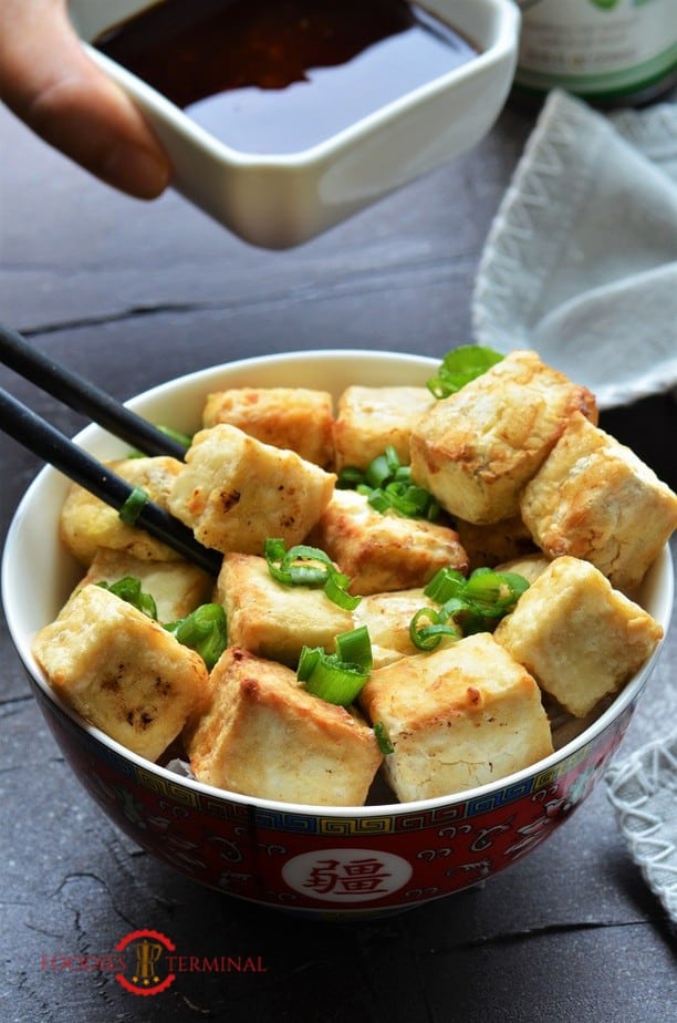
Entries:
[[296, 678], [314, 696], [348, 706], [368, 679], [372, 663], [369, 633], [361, 626], [336, 637], [336, 653], [327, 653], [321, 647], [303, 647]]

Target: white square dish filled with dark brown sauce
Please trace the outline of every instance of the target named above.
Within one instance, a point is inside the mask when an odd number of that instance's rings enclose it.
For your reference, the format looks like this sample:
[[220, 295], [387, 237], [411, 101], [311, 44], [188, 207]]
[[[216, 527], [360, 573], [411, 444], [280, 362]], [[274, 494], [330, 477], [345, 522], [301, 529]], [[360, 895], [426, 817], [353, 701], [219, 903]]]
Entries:
[[[477, 144], [512, 83], [512, 0], [70, 0], [178, 192], [251, 245], [327, 230]], [[201, 19], [201, 20], [200, 20]]]

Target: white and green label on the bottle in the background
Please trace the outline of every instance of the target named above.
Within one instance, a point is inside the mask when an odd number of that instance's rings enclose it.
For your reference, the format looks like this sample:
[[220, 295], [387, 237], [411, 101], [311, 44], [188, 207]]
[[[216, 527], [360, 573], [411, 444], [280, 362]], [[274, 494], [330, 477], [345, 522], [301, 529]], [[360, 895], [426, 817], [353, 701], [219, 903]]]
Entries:
[[677, 69], [677, 0], [518, 0], [515, 82], [622, 93]]

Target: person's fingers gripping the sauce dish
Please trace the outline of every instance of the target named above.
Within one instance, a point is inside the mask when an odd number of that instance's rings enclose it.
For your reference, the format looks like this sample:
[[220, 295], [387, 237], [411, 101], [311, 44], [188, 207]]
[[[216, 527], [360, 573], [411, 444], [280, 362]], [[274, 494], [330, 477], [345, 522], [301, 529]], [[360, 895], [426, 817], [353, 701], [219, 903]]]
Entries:
[[0, 99], [115, 188], [149, 199], [168, 185], [166, 153], [132, 101], [86, 55], [65, 0], [0, 2]]

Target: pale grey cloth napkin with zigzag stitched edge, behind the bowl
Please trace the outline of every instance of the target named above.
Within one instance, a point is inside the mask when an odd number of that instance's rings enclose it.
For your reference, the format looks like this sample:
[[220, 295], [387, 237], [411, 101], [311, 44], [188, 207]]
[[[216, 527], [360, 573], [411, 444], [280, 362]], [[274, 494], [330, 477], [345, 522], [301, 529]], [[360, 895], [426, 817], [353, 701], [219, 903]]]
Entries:
[[491, 226], [475, 341], [533, 348], [600, 407], [677, 385], [677, 104], [548, 97]]

